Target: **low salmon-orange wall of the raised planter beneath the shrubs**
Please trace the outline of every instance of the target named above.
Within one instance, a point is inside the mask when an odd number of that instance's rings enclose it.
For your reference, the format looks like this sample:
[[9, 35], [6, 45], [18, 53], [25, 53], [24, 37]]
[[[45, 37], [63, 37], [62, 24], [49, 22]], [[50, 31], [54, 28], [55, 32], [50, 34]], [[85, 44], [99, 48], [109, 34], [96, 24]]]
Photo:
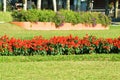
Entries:
[[[26, 30], [108, 30], [109, 26], [102, 24], [76, 24], [63, 23], [60, 26], [55, 25], [53, 22], [11, 22], [17, 26], [20, 26]], [[69, 26], [69, 27], [68, 27]]]

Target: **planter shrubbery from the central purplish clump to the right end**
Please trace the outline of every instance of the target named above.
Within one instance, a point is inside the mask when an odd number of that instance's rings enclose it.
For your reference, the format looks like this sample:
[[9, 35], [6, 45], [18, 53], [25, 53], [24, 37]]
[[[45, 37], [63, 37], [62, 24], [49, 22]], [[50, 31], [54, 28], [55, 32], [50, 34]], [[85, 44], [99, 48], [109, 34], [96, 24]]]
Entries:
[[60, 10], [56, 13], [54, 22], [57, 25], [61, 25], [64, 22], [78, 24], [92, 24], [95, 26], [97, 23], [102, 25], [110, 25], [111, 19], [107, 17], [105, 14], [98, 12], [74, 12], [67, 10]]

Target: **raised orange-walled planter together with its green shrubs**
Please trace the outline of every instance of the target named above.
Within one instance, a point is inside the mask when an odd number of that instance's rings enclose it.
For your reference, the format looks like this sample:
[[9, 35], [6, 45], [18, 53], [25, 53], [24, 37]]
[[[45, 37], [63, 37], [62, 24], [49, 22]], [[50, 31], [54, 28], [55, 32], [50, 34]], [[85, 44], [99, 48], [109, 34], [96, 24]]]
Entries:
[[14, 11], [12, 16], [12, 23], [28, 30], [98, 30], [108, 29], [111, 23], [109, 17], [98, 12], [28, 10]]

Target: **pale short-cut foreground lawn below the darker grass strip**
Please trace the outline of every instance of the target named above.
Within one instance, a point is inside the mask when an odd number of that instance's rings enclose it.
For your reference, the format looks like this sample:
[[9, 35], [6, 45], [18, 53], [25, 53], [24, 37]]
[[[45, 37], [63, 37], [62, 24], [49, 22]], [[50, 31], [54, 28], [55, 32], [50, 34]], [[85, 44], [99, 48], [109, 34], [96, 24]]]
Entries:
[[0, 63], [0, 80], [119, 80], [119, 66], [110, 61]]

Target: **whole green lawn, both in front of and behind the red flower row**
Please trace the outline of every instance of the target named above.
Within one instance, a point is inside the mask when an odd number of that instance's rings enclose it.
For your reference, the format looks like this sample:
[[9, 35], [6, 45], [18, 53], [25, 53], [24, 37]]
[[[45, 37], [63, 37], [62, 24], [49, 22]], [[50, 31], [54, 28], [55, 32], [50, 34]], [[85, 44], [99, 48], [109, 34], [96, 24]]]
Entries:
[[[0, 24], [0, 36], [30, 39], [85, 34], [104, 38], [120, 36], [120, 26], [109, 30], [29, 31], [18, 26]], [[70, 56], [1, 56], [0, 80], [119, 80], [119, 54], [89, 54]]]

